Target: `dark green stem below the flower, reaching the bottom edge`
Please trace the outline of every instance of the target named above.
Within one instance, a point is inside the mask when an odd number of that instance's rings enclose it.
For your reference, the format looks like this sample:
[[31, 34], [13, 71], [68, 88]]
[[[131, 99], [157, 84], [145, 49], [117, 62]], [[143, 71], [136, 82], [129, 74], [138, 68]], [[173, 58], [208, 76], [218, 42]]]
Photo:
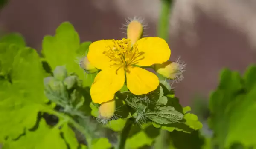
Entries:
[[116, 146], [116, 149], [124, 149], [125, 148], [125, 141], [128, 138], [129, 132], [131, 130], [131, 126], [134, 123], [133, 118], [129, 118], [126, 120], [124, 129], [122, 130], [120, 137], [119, 137], [119, 142]]

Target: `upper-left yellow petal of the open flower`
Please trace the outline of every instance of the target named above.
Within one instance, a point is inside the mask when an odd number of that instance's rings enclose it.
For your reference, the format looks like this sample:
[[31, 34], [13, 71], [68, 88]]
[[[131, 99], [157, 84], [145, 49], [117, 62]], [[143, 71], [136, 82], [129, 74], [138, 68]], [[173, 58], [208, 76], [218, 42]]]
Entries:
[[87, 58], [91, 65], [95, 66], [97, 69], [108, 68], [111, 63], [110, 58], [103, 54], [103, 52], [108, 50], [108, 46], [113, 45], [113, 40], [99, 40], [90, 44], [89, 52]]

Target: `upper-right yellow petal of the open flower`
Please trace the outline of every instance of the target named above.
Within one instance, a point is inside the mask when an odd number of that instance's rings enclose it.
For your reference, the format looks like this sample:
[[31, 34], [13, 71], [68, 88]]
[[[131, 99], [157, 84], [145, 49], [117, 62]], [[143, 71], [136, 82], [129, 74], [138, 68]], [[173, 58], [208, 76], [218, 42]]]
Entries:
[[[159, 37], [146, 37], [142, 38], [137, 43], [139, 52], [144, 52], [136, 65], [151, 66], [156, 63], [163, 63], [169, 60], [171, 50], [165, 40]], [[138, 57], [140, 59], [141, 57]]]

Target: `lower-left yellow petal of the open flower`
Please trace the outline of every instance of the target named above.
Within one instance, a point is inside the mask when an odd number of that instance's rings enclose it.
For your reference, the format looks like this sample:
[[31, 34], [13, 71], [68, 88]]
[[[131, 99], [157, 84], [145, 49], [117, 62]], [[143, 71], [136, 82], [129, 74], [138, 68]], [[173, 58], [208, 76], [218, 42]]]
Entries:
[[115, 93], [119, 91], [125, 83], [125, 71], [118, 66], [100, 71], [91, 86], [90, 95], [94, 103], [103, 103], [113, 99]]

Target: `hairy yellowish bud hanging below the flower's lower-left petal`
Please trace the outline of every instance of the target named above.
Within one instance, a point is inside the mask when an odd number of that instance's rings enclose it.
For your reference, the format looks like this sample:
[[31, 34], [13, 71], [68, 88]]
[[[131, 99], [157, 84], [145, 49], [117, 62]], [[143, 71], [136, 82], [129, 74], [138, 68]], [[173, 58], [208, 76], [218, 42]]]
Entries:
[[102, 123], [108, 122], [115, 113], [116, 110], [116, 102], [115, 100], [110, 100], [108, 102], [102, 103], [99, 106], [99, 119]]

